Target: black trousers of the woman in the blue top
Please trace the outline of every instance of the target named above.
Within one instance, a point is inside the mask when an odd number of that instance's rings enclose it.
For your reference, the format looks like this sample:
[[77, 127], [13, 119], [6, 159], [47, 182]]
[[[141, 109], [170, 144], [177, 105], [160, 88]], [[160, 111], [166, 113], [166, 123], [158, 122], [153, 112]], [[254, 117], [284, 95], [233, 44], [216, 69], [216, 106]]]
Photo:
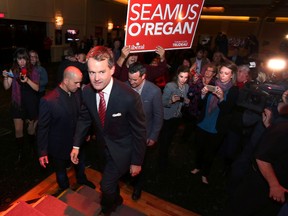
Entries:
[[197, 127], [195, 168], [201, 170], [202, 176], [209, 175], [222, 140], [221, 134], [212, 134]]

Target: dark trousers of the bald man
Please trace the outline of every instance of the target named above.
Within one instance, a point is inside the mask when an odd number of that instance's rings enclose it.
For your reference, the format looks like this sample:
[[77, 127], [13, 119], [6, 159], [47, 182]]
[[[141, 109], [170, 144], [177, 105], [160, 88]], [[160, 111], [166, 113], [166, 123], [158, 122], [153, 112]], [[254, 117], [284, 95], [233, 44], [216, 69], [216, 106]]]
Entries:
[[[69, 178], [67, 175], [66, 168], [71, 165], [71, 160], [69, 159], [59, 159], [52, 157], [53, 165], [55, 168], [56, 173], [56, 180], [58, 183], [58, 186], [61, 189], [66, 189], [69, 187]], [[83, 184], [87, 181], [86, 175], [85, 175], [85, 157], [84, 153], [80, 151], [79, 153], [79, 163], [74, 165], [75, 173], [76, 173], [76, 179], [79, 184]]]

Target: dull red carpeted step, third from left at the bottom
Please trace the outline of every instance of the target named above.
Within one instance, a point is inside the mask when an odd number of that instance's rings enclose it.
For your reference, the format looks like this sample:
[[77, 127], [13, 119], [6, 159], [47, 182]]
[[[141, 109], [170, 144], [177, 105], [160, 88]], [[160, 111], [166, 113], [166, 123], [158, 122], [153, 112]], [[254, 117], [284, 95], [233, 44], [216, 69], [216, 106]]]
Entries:
[[87, 216], [98, 215], [101, 212], [99, 203], [93, 202], [89, 198], [72, 191], [71, 189], [65, 190], [58, 199]]

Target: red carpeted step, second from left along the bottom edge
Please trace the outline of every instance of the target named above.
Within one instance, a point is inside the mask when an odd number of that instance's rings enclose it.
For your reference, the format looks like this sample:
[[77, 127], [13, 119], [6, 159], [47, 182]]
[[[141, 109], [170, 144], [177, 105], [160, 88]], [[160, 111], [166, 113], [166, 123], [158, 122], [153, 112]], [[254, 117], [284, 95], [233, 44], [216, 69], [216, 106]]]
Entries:
[[85, 214], [76, 210], [75, 208], [68, 206], [66, 203], [57, 199], [54, 196], [46, 195], [38, 200], [34, 205], [34, 209], [42, 212], [45, 215], [53, 216], [64, 216], [64, 215], [73, 215], [73, 216], [85, 216]]

